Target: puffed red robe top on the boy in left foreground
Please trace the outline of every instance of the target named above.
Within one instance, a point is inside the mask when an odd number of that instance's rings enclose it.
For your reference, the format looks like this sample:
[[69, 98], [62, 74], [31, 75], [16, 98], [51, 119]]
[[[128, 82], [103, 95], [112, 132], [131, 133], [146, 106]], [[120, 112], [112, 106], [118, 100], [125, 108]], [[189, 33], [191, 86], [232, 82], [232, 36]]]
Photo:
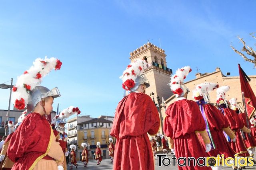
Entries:
[[14, 163], [12, 170], [28, 170], [47, 155], [52, 127], [39, 113], [28, 114], [13, 133], [7, 155]]

